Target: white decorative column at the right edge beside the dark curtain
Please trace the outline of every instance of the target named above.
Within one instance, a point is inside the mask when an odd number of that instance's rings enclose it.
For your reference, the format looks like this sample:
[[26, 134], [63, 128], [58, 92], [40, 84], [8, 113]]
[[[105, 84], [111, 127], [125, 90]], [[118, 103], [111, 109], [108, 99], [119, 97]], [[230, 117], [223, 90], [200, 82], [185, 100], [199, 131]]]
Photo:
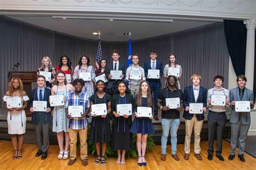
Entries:
[[247, 78], [246, 87], [248, 89], [253, 90], [256, 18], [244, 20], [244, 24], [246, 25], [246, 28], [247, 28], [246, 59], [245, 59], [245, 76]]

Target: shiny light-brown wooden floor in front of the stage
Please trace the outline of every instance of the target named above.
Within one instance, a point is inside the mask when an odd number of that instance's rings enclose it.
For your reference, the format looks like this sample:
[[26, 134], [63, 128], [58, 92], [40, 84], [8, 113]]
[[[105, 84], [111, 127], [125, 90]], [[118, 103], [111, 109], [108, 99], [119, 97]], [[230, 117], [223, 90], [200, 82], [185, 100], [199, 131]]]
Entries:
[[116, 165], [116, 158], [107, 158], [107, 166], [94, 166], [95, 156], [89, 155], [89, 165], [84, 167], [77, 157], [77, 161], [72, 166], [68, 166], [68, 160], [58, 160], [57, 154], [59, 148], [57, 145], [50, 145], [48, 158], [41, 160], [41, 157], [35, 157], [37, 146], [32, 144], [24, 144], [23, 157], [21, 159], [12, 159], [14, 154], [11, 141], [0, 140], [0, 169], [255, 169], [256, 159], [245, 153], [246, 162], [241, 162], [237, 155], [234, 160], [227, 159], [230, 151], [230, 143], [223, 141], [223, 157], [225, 162], [219, 161], [213, 157], [212, 161], [207, 160], [207, 141], [201, 141], [202, 161], [197, 160], [193, 156], [193, 144], [191, 145], [190, 160], [184, 160], [184, 145], [177, 146], [177, 154], [180, 161], [175, 161], [171, 157], [170, 145], [167, 146], [166, 161], [160, 160], [161, 146], [154, 146], [153, 151], [146, 153], [147, 166], [139, 167], [137, 159], [126, 159], [126, 165]]

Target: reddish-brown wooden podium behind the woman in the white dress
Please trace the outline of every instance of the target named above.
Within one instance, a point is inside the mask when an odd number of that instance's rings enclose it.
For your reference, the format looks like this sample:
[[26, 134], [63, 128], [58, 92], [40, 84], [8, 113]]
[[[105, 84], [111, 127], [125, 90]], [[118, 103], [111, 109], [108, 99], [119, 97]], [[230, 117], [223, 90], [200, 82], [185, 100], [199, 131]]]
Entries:
[[[26, 91], [26, 95], [30, 95], [30, 91], [32, 89], [32, 82], [36, 82], [37, 72], [19, 72], [19, 71], [10, 71], [8, 74], [9, 82], [13, 77], [18, 77], [23, 82], [24, 91]], [[29, 107], [25, 109], [26, 113], [29, 113]], [[30, 116], [28, 114], [27, 116]]]

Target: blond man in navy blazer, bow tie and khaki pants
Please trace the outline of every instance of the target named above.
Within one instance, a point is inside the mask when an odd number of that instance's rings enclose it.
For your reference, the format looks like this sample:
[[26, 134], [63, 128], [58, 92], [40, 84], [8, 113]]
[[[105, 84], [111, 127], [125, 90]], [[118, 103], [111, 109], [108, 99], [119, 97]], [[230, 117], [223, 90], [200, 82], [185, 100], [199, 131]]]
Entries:
[[[203, 127], [204, 112], [207, 105], [207, 89], [200, 86], [201, 75], [195, 73], [191, 76], [192, 86], [188, 86], [184, 90], [183, 107], [186, 125], [185, 136], [185, 155], [184, 159], [188, 160], [190, 157], [190, 140], [191, 133], [194, 129], [194, 156], [198, 160], [202, 160], [200, 155], [200, 132]], [[190, 103], [203, 103], [203, 114], [190, 114]]]

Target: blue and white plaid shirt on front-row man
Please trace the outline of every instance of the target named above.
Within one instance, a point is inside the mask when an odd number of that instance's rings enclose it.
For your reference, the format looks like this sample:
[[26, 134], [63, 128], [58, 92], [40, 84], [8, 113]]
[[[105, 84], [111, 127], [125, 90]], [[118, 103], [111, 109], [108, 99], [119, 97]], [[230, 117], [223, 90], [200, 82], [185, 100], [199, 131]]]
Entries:
[[[65, 108], [68, 108], [69, 105], [83, 105], [83, 111], [85, 112], [85, 109], [90, 108], [89, 96], [83, 91], [79, 95], [74, 91], [66, 96]], [[88, 121], [86, 118], [72, 117], [69, 119], [70, 129], [84, 129], [87, 125]]]

